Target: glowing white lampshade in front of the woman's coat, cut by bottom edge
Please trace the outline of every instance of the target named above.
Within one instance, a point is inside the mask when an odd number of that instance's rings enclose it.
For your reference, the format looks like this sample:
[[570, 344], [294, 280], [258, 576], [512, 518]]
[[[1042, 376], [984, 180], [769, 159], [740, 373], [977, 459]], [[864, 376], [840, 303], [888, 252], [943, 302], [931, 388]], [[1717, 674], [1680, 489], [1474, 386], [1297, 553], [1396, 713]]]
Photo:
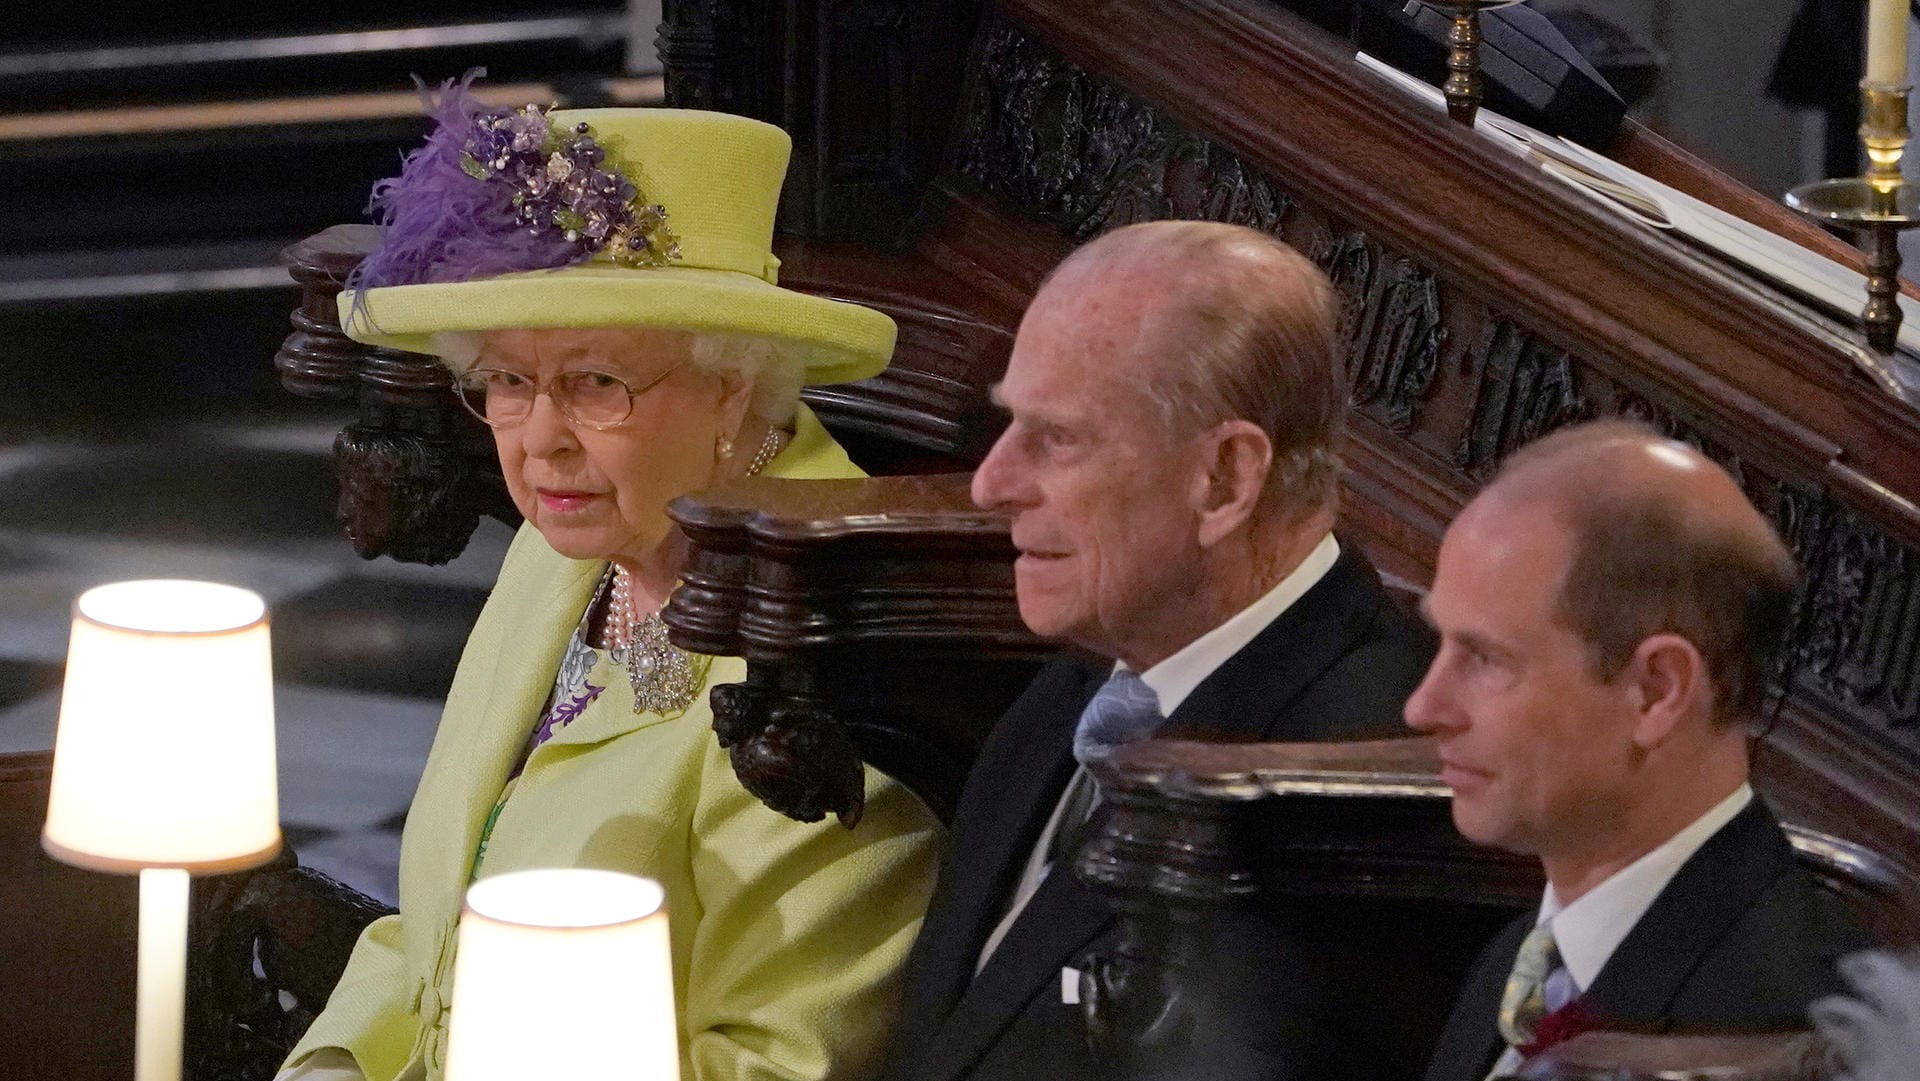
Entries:
[[451, 1006], [447, 1081], [678, 1081], [660, 885], [597, 870], [476, 881]]

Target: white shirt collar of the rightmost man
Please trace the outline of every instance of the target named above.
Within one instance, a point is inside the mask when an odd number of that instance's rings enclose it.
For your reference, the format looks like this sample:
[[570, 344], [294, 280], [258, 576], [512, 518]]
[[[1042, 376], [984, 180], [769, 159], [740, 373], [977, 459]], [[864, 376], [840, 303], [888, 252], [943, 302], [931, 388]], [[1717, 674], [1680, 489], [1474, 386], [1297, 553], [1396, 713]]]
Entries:
[[1553, 922], [1553, 947], [1580, 991], [1594, 985], [1594, 977], [1605, 968], [1613, 950], [1647, 914], [1667, 883], [1693, 858], [1693, 853], [1749, 803], [1753, 803], [1753, 787], [1741, 783], [1713, 810], [1695, 818], [1692, 826], [1668, 837], [1659, 849], [1613, 872], [1607, 881], [1586, 891], [1572, 904], [1563, 906], [1553, 885], [1548, 883], [1534, 925]]

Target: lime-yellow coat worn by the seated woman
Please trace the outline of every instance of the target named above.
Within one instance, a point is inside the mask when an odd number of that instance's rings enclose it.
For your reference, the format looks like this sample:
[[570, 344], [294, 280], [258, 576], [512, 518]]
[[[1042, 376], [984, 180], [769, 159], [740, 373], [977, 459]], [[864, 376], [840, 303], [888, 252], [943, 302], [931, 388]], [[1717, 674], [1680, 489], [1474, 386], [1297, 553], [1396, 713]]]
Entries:
[[[804, 407], [766, 472], [858, 476]], [[288, 1066], [336, 1046], [369, 1081], [440, 1077], [474, 849], [603, 570], [557, 555], [530, 526], [515, 538], [407, 812], [399, 914], [361, 935]], [[707, 685], [739, 682], [745, 668], [714, 659]], [[674, 720], [636, 714], [632, 703], [626, 682], [612, 680], [534, 753], [488, 839], [482, 877], [578, 866], [666, 887], [684, 1081], [876, 1073], [933, 885], [933, 816], [870, 770], [856, 829], [791, 822], [733, 778], [705, 689]], [[538, 1016], [526, 1031], [540, 1037]]]

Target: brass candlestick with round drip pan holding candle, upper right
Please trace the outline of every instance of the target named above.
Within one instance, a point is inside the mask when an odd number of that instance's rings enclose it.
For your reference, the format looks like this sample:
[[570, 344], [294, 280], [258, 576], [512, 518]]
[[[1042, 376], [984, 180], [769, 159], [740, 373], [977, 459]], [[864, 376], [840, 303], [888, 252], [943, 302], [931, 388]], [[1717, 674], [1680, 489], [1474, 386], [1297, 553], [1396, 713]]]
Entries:
[[1788, 205], [1818, 221], [1868, 234], [1866, 344], [1891, 353], [1901, 334], [1901, 230], [1920, 225], [1920, 192], [1901, 179], [1910, 84], [1860, 83], [1860, 142], [1866, 175], [1814, 180], [1788, 192]]

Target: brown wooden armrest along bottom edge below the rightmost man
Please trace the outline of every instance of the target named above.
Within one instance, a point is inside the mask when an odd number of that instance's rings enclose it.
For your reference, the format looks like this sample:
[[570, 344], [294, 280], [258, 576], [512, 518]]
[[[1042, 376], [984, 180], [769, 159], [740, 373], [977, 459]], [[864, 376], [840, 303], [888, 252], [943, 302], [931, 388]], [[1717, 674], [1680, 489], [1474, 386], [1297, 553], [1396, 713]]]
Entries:
[[1812, 1031], [1730, 1037], [1582, 1033], [1526, 1062], [1528, 1081], [1824, 1081], [1839, 1071]]

